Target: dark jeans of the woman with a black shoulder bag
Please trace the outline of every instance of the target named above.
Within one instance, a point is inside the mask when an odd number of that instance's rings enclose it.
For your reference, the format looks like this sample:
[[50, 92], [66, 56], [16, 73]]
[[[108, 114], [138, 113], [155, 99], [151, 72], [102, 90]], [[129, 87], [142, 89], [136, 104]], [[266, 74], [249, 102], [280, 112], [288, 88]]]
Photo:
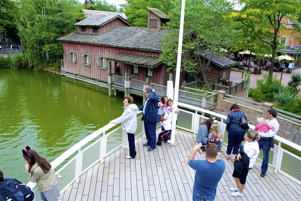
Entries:
[[238, 153], [239, 144], [242, 142], [245, 132], [236, 132], [229, 131], [228, 132], [228, 146], [227, 146], [227, 154], [230, 155], [231, 151], [233, 154]]

